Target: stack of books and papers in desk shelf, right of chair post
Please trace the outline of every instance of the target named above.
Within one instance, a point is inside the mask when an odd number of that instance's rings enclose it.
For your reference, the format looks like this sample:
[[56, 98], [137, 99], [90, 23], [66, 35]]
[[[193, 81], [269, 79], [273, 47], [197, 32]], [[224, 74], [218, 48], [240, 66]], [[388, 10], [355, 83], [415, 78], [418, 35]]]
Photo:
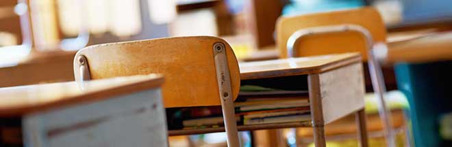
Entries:
[[[242, 86], [243, 87], [243, 86]], [[307, 91], [284, 91], [260, 86], [244, 86], [234, 103], [243, 125], [310, 120]], [[243, 89], [246, 89], [245, 91]]]

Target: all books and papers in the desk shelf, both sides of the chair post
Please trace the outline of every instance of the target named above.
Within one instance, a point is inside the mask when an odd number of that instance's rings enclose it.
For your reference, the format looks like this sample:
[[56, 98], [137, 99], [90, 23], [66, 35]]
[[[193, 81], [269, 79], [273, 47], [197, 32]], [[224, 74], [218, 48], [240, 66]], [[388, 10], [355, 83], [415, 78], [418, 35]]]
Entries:
[[[238, 125], [262, 125], [310, 120], [307, 91], [284, 91], [277, 88], [245, 86], [234, 102]], [[168, 111], [167, 111], [168, 112]], [[222, 127], [221, 106], [181, 108], [168, 115], [168, 127], [199, 129]], [[179, 118], [174, 119], [177, 116]], [[177, 120], [179, 122], [171, 122]], [[175, 124], [174, 126], [172, 126]]]

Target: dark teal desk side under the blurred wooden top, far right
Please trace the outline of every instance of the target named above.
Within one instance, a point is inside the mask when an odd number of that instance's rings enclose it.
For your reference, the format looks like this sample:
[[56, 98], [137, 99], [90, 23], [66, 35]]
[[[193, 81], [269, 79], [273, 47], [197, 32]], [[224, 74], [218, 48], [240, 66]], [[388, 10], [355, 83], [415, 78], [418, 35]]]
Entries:
[[440, 137], [440, 116], [452, 112], [452, 61], [399, 63], [397, 85], [410, 103], [416, 147], [452, 146]]

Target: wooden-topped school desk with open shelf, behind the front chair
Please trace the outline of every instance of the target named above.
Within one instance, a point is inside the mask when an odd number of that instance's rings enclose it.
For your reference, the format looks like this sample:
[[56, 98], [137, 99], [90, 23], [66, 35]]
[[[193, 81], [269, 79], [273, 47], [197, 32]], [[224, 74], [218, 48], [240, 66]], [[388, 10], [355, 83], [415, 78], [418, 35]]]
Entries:
[[[364, 78], [361, 56], [357, 53], [331, 54], [293, 59], [240, 63], [242, 82], [288, 82], [309, 91], [312, 121], [266, 125], [239, 125], [239, 131], [312, 127], [316, 146], [325, 146], [324, 126], [349, 114], [355, 114], [359, 136], [366, 146], [364, 121]], [[298, 76], [300, 81], [288, 80]], [[189, 135], [224, 131], [224, 127], [170, 130], [169, 135]]]

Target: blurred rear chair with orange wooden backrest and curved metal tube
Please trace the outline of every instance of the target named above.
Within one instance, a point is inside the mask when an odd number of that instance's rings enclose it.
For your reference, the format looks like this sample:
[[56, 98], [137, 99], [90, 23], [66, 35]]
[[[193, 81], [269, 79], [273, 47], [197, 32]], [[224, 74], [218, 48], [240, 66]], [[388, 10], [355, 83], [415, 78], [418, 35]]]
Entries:
[[375, 46], [384, 46], [385, 42], [386, 27], [379, 12], [371, 7], [281, 17], [277, 22], [277, 46], [282, 58], [361, 52], [380, 97], [379, 114], [388, 146], [394, 146], [390, 112], [384, 102], [384, 78], [374, 54]]

